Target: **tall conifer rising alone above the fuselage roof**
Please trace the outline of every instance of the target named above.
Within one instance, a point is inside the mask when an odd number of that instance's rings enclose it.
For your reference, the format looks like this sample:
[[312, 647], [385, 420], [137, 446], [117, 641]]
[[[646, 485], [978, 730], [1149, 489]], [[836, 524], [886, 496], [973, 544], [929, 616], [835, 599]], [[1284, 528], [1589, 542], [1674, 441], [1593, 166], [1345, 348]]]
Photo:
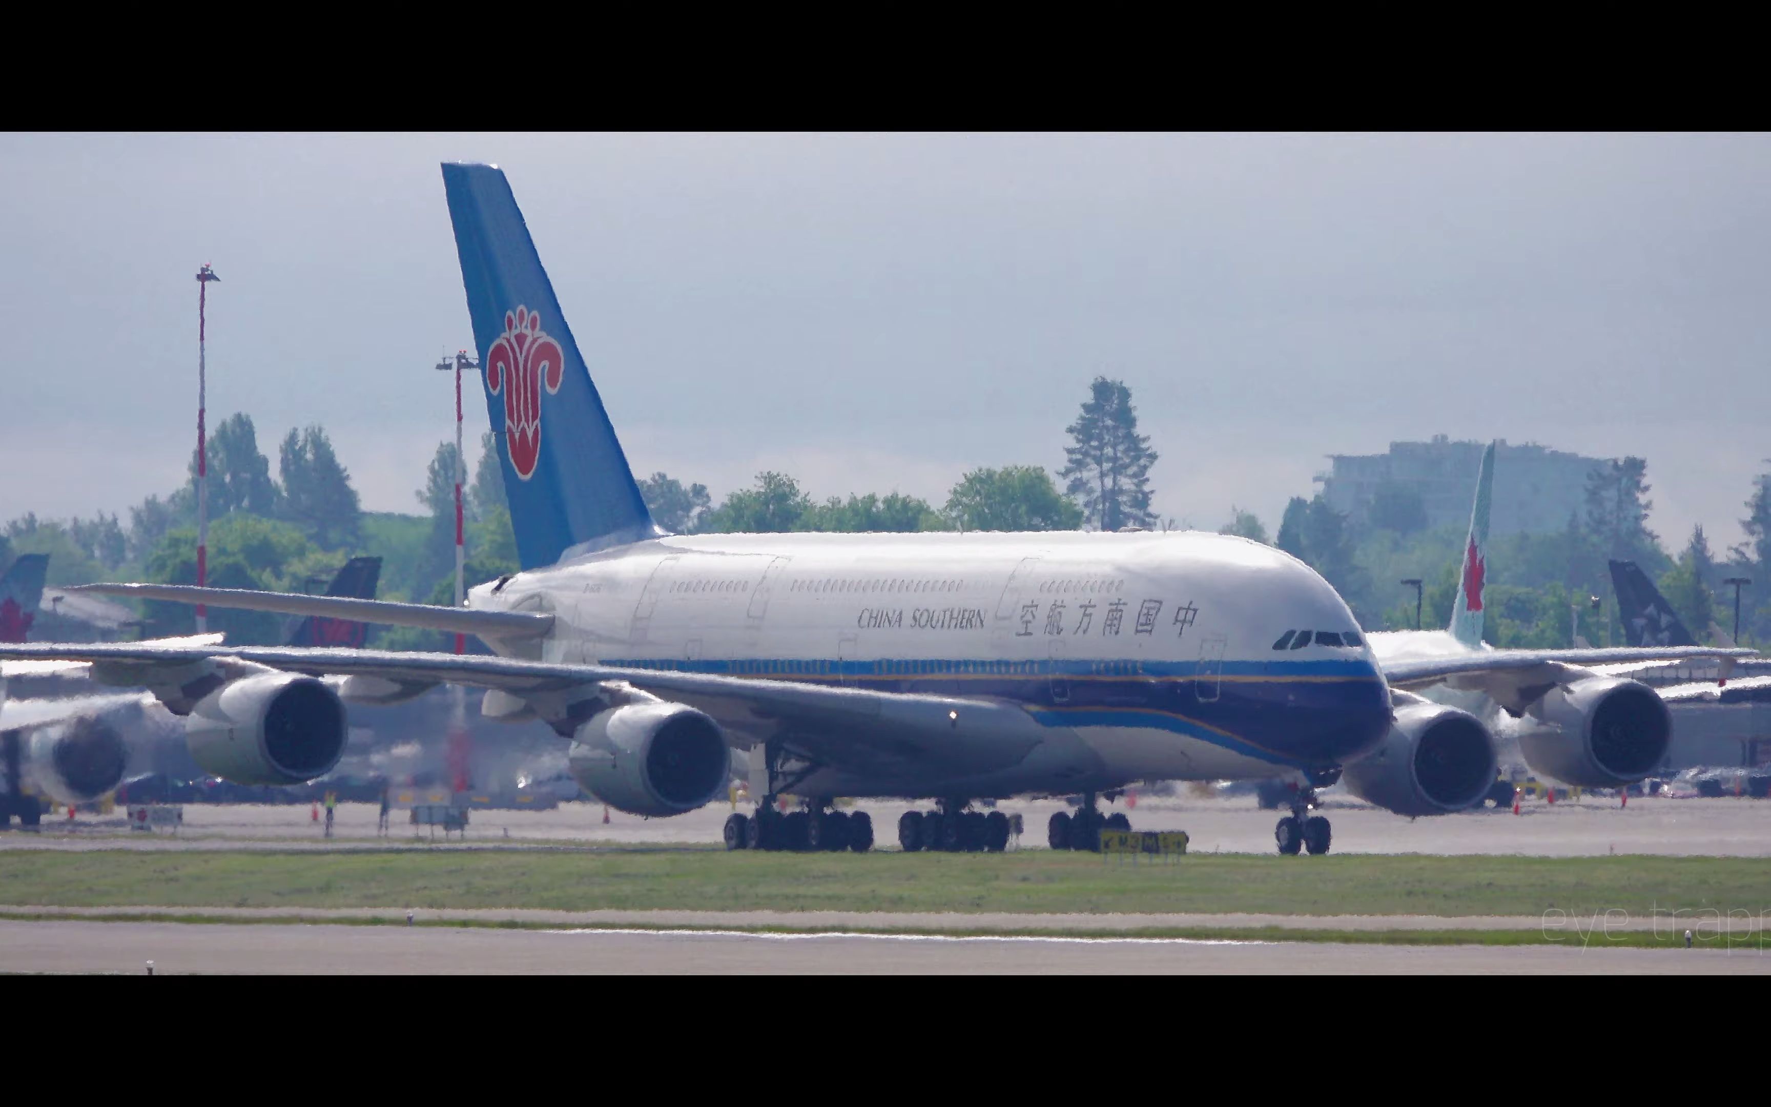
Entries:
[[1156, 452], [1149, 436], [1137, 432], [1132, 390], [1123, 381], [1094, 377], [1082, 413], [1064, 432], [1075, 445], [1064, 446], [1070, 461], [1059, 476], [1068, 478], [1066, 491], [1080, 499], [1087, 519], [1103, 531], [1155, 526], [1148, 473]]

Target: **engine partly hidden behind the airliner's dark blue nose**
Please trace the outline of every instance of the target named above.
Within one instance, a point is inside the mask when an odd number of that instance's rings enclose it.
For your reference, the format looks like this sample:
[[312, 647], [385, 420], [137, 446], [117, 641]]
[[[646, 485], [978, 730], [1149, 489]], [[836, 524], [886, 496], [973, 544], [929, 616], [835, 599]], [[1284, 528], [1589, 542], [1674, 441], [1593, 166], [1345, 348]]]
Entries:
[[1495, 785], [1495, 739], [1466, 710], [1396, 694], [1383, 742], [1346, 767], [1348, 792], [1397, 815], [1450, 815], [1482, 802]]

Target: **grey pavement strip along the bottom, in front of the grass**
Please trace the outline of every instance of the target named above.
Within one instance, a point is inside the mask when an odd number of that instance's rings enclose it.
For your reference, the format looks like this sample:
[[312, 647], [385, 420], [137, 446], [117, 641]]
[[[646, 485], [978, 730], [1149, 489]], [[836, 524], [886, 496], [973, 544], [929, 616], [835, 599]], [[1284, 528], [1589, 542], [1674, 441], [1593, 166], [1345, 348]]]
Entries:
[[1771, 972], [1771, 956], [1599, 946], [1337, 946], [430, 926], [0, 921], [0, 972], [143, 974]]

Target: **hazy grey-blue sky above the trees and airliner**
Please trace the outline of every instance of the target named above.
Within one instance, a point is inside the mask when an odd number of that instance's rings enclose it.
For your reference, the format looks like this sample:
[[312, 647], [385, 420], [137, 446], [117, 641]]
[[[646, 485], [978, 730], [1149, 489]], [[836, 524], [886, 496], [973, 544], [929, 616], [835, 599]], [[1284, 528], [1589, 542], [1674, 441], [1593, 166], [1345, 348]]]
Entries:
[[[0, 136], [0, 519], [124, 510], [211, 418], [416, 512], [471, 344], [437, 161], [508, 174], [634, 469], [940, 503], [1096, 372], [1156, 508], [1277, 524], [1392, 439], [1643, 453], [1668, 546], [1771, 457], [1762, 135]], [[469, 437], [485, 427], [471, 397]], [[471, 450], [469, 455], [475, 455]]]

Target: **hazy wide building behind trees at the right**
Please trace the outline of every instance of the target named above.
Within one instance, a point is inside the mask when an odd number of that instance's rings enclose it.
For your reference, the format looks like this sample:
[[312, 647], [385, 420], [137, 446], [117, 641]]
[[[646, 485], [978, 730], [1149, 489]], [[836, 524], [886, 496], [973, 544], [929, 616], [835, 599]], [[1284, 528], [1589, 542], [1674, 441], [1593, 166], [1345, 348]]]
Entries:
[[[1364, 517], [1380, 485], [1394, 484], [1420, 494], [1427, 526], [1470, 523], [1475, 469], [1488, 443], [1454, 443], [1435, 434], [1429, 443], [1390, 443], [1388, 453], [1330, 453], [1334, 468], [1316, 475], [1323, 499], [1337, 512]], [[1527, 443], [1495, 450], [1495, 507], [1491, 533], [1551, 533], [1567, 526], [1569, 514], [1587, 507], [1587, 475], [1608, 459], [1580, 457]]]

